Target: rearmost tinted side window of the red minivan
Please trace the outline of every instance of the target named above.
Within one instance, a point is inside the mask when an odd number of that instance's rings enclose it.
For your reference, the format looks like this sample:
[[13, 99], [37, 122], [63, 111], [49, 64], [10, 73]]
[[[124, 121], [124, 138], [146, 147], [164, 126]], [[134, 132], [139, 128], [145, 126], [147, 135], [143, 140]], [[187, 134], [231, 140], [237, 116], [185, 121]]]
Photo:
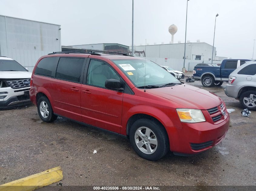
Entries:
[[40, 60], [35, 68], [35, 74], [55, 77], [59, 57], [47, 57]]

